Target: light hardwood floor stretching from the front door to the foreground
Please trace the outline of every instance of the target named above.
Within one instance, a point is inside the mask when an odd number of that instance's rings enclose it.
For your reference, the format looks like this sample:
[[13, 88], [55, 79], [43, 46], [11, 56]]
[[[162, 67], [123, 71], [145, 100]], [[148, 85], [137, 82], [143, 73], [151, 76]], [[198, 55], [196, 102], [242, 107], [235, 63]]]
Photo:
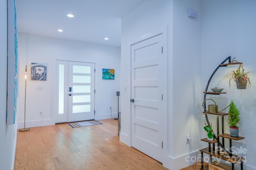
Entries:
[[58, 124], [17, 134], [14, 170], [167, 170], [119, 142], [118, 121], [72, 128]]

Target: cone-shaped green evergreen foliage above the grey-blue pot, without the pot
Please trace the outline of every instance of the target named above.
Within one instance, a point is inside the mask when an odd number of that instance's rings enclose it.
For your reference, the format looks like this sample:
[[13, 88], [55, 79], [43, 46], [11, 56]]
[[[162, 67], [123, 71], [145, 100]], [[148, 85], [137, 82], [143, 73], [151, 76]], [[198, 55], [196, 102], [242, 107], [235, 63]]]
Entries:
[[233, 100], [230, 102], [230, 107], [228, 110], [227, 122], [230, 127], [238, 128], [240, 121], [240, 111], [236, 107]]

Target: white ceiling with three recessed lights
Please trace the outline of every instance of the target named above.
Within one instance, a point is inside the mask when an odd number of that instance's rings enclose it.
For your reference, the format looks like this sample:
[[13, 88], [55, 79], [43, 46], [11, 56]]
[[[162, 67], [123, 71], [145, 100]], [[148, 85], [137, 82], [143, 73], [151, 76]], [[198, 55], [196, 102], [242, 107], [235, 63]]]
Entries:
[[18, 32], [121, 46], [121, 17], [144, 1], [16, 0]]

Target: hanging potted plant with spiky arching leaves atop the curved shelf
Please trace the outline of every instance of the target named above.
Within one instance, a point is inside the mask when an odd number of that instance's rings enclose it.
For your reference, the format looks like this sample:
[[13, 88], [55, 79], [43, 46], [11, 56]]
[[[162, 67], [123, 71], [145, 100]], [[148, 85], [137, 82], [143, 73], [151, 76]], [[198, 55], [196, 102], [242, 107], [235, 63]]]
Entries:
[[229, 79], [229, 86], [230, 81], [233, 79], [236, 82], [237, 89], [246, 89], [247, 82], [251, 84], [250, 79], [248, 77], [249, 72], [244, 72], [243, 65], [240, 64], [237, 70], [233, 70], [232, 78]]

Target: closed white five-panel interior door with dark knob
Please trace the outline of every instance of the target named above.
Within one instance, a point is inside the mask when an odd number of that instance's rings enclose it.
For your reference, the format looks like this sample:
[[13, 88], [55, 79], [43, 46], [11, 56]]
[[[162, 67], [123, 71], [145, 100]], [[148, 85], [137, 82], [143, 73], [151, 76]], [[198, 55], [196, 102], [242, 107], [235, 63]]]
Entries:
[[131, 46], [132, 147], [162, 162], [162, 34]]

